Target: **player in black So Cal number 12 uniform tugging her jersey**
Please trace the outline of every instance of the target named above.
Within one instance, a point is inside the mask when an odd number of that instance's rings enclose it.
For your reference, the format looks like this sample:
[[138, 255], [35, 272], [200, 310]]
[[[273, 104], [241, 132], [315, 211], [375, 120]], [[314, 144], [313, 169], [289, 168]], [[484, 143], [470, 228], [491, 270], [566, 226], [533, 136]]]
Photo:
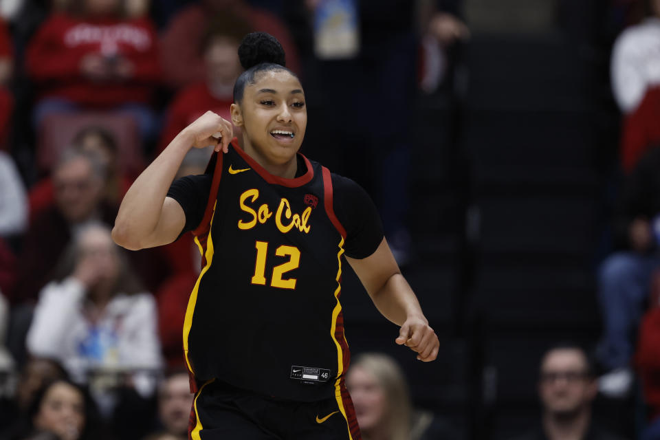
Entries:
[[[305, 94], [281, 45], [249, 34], [239, 58], [239, 138], [210, 112], [186, 127], [126, 193], [113, 237], [137, 250], [197, 236], [203, 270], [184, 322], [192, 439], [360, 439], [344, 384], [342, 263], [401, 326], [397, 344], [431, 361], [439, 342], [369, 196], [298, 153]], [[186, 152], [209, 144], [207, 173], [172, 184]]]

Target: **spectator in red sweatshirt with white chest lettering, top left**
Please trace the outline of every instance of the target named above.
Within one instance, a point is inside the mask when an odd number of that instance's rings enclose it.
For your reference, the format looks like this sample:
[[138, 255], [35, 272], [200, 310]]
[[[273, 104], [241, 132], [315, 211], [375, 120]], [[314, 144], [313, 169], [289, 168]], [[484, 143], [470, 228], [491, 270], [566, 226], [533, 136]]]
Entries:
[[143, 137], [156, 131], [149, 104], [159, 81], [155, 28], [147, 18], [123, 17], [121, 0], [73, 1], [54, 13], [30, 42], [28, 74], [39, 88], [38, 127], [52, 113], [128, 113]]

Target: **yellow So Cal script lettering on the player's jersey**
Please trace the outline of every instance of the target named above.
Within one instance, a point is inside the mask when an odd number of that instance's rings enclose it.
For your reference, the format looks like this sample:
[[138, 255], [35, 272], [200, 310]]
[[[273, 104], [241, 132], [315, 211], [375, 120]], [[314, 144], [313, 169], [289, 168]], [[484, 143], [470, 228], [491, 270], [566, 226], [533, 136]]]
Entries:
[[[250, 214], [250, 220], [243, 221], [239, 220], [239, 229], [248, 230], [254, 228], [256, 223], [266, 223], [268, 219], [273, 217], [273, 212], [268, 208], [266, 203], [259, 206], [258, 210], [248, 206], [248, 201], [254, 203], [256, 199], [259, 198], [259, 190], [252, 188], [241, 194], [239, 197], [239, 206], [241, 210]], [[275, 224], [277, 225], [278, 230], [283, 234], [286, 234], [293, 228], [298, 229], [300, 232], [309, 233], [310, 226], [307, 224], [309, 221], [309, 215], [311, 214], [311, 206], [307, 206], [302, 214], [293, 214], [291, 211], [291, 205], [289, 201], [284, 197], [280, 200], [280, 205], [277, 207], [275, 212]], [[285, 222], [287, 224], [285, 224]]]

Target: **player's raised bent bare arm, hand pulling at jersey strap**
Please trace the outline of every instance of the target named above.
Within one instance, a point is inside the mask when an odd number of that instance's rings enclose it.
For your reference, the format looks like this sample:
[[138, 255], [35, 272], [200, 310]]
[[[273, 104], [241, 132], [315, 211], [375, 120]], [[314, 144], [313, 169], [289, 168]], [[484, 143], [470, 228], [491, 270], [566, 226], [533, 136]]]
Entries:
[[[216, 133], [221, 133], [221, 142], [212, 137]], [[140, 250], [175, 241], [186, 224], [186, 214], [166, 195], [181, 162], [192, 147], [217, 144], [215, 150], [226, 153], [232, 135], [232, 124], [212, 111], [183, 129], [126, 192], [112, 229], [115, 243]]]

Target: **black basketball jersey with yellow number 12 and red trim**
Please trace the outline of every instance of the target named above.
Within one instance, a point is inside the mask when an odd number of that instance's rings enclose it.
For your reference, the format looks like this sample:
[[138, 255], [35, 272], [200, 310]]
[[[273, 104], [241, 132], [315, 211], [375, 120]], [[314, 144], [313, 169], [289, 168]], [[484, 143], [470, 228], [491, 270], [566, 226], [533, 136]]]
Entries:
[[205, 220], [193, 233], [203, 270], [184, 351], [211, 378], [282, 399], [339, 395], [349, 364], [340, 305], [346, 232], [327, 168], [303, 157], [295, 179], [268, 173], [232, 142], [214, 156]]

